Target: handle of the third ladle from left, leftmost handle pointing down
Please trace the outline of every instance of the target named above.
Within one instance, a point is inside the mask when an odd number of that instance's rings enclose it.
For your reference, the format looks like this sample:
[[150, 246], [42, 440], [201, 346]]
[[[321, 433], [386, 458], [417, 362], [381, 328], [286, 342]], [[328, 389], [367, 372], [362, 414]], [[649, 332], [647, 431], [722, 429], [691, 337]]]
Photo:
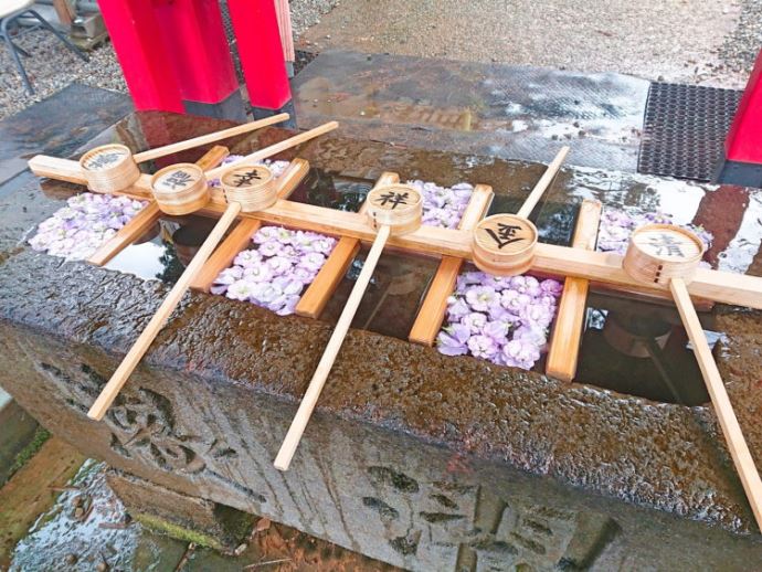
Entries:
[[140, 333], [130, 350], [127, 352], [125, 359], [121, 360], [121, 363], [114, 372], [114, 375], [112, 375], [112, 379], [108, 380], [108, 383], [106, 383], [104, 389], [100, 391], [98, 399], [95, 400], [95, 403], [93, 403], [93, 406], [87, 412], [88, 417], [100, 421], [106, 414], [106, 411], [119, 394], [119, 391], [124, 386], [130, 373], [133, 373], [146, 351], [148, 351], [148, 348], [159, 333], [159, 330], [161, 330], [165, 324], [167, 324], [169, 316], [172, 314], [174, 308], [177, 308], [178, 304], [180, 304], [180, 300], [186, 294], [186, 290], [188, 290], [191, 282], [207, 263], [207, 259], [212, 254], [218, 243], [223, 239], [225, 231], [227, 231], [227, 227], [233, 223], [240, 212], [240, 203], [233, 202], [227, 205], [227, 209], [225, 209], [225, 212], [222, 214], [218, 223], [214, 225], [214, 229], [212, 229], [212, 232], [199, 248], [199, 252], [195, 254], [195, 256], [193, 256], [193, 259], [186, 268], [186, 272], [182, 273], [180, 279], [178, 279], [177, 284], [174, 284], [172, 289], [165, 298], [165, 301], [161, 303], [161, 306], [159, 306], [159, 309], [148, 322], [148, 326], [146, 326], [146, 329], [142, 330], [142, 333]]

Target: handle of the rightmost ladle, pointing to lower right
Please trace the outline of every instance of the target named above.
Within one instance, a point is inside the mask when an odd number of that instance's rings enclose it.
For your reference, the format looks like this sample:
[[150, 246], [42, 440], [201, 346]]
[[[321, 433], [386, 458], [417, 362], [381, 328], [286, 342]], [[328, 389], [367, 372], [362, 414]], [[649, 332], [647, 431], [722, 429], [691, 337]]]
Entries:
[[688, 332], [688, 338], [694, 345], [694, 353], [701, 369], [712, 405], [715, 405], [715, 412], [730, 449], [730, 455], [733, 458], [735, 470], [741, 477], [741, 485], [743, 485], [743, 490], [747, 492], [747, 498], [754, 512], [756, 526], [762, 530], [762, 480], [760, 480], [760, 474], [754, 465], [754, 459], [749, 452], [743, 433], [741, 433], [741, 426], [738, 424], [738, 419], [735, 419], [735, 412], [728, 398], [728, 392], [722, 383], [717, 363], [715, 363], [709, 343], [707, 343], [707, 338], [703, 335], [703, 329], [690, 300], [686, 283], [682, 278], [673, 278], [669, 283], [669, 289], [675, 298], [680, 318], [682, 318], [682, 325]]

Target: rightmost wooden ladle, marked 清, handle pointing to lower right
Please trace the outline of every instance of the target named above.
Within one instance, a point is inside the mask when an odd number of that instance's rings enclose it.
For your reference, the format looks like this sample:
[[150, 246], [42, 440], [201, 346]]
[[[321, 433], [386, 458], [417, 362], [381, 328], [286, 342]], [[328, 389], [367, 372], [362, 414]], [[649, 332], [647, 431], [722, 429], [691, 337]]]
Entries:
[[705, 251], [706, 245], [701, 240], [685, 229], [669, 224], [648, 224], [633, 233], [622, 265], [633, 278], [645, 284], [668, 287], [671, 292], [682, 325], [694, 346], [694, 353], [730, 456], [741, 478], [756, 525], [762, 530], [762, 480], [686, 286], [692, 279]]

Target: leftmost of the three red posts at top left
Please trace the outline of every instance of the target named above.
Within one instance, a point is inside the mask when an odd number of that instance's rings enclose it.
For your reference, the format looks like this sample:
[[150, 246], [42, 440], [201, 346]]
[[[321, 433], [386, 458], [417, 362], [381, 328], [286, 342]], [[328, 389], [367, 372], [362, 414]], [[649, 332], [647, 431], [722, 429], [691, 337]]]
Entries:
[[98, 0], [127, 87], [138, 110], [184, 113], [151, 0]]

